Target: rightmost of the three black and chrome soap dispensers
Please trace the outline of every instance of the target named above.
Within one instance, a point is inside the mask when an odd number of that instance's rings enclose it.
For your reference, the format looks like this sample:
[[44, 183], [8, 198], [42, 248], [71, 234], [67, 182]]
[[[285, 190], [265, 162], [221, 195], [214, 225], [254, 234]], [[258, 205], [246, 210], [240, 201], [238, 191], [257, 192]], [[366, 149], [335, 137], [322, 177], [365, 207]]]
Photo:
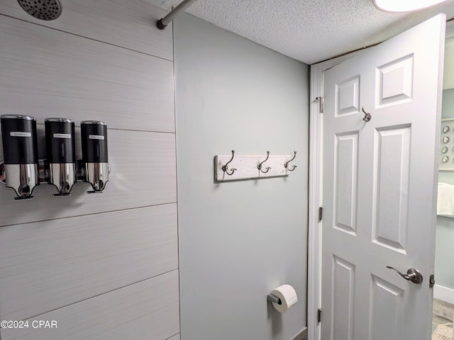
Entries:
[[109, 159], [107, 156], [107, 125], [96, 120], [80, 122], [82, 135], [82, 164], [84, 181], [92, 184], [93, 191], [100, 193], [109, 181]]

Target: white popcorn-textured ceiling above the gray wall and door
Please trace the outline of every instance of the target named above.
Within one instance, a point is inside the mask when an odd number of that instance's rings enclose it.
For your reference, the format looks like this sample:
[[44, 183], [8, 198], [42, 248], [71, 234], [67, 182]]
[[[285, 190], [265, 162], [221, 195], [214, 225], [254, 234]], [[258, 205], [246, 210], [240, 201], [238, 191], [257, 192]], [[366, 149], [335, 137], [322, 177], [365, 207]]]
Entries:
[[[147, 1], [171, 8], [182, 0]], [[454, 18], [454, 0], [413, 13], [385, 13], [372, 0], [198, 0], [187, 12], [313, 64], [382, 42], [436, 13]]]

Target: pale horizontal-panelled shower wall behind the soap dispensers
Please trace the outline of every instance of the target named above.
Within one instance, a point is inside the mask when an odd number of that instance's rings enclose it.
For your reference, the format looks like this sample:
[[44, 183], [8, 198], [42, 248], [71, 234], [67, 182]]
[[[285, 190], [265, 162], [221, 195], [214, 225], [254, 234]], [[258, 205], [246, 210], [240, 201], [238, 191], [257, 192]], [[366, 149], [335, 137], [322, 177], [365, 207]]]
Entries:
[[0, 0], [0, 114], [35, 116], [41, 136], [48, 117], [104, 120], [111, 179], [23, 202], [0, 186], [0, 319], [57, 321], [0, 339], [177, 340], [172, 28], [145, 0], [62, 6], [45, 22]]

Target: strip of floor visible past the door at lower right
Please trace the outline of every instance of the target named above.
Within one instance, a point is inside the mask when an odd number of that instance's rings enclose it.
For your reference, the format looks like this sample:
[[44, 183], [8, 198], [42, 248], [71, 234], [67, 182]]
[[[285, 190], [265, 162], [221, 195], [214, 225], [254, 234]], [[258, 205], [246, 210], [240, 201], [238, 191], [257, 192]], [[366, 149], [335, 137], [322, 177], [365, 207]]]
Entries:
[[433, 299], [432, 340], [453, 339], [454, 305]]

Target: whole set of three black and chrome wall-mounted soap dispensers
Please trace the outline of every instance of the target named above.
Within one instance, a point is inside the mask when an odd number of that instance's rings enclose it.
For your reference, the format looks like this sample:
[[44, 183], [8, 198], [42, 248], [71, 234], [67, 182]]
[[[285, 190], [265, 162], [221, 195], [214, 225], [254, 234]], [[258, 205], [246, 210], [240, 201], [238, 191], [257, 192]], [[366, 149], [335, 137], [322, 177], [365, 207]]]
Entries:
[[107, 125], [97, 120], [80, 123], [82, 159], [76, 159], [74, 120], [46, 118], [46, 159], [38, 159], [36, 120], [26, 115], [1, 115], [4, 162], [0, 162], [0, 183], [13, 188], [16, 198], [33, 198], [40, 183], [57, 188], [54, 196], [70, 196], [77, 181], [89, 182], [101, 193], [109, 181]]

